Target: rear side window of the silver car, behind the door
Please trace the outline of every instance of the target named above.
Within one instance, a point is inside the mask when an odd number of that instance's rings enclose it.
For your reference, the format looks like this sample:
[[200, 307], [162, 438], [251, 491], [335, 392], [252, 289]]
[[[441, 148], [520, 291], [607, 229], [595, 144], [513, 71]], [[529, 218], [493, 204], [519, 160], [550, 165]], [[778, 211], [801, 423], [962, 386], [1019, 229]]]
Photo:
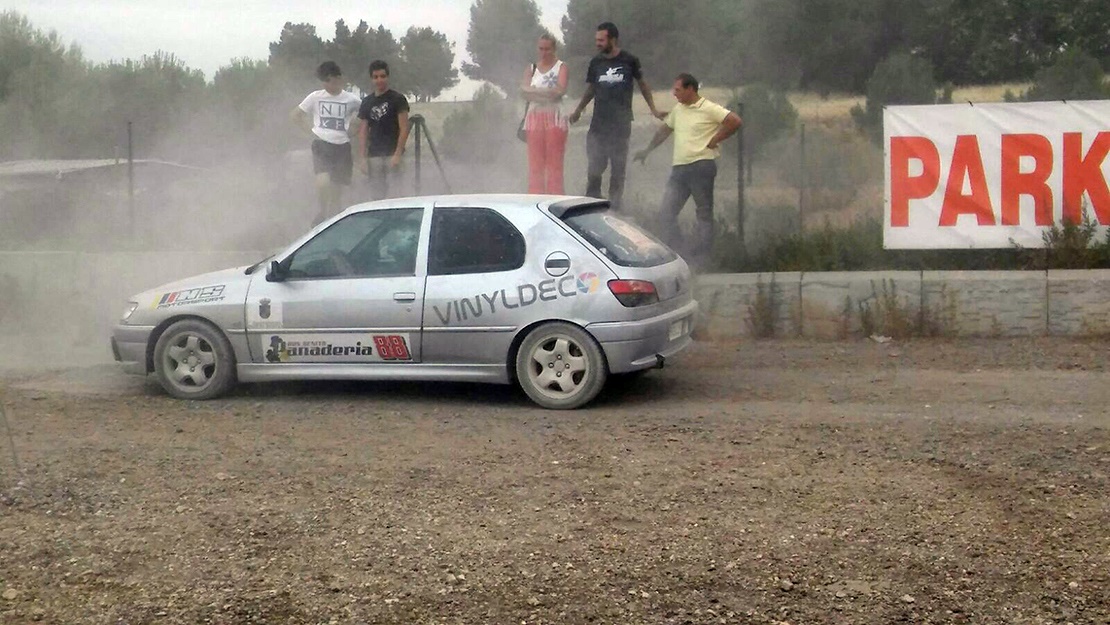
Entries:
[[428, 274], [511, 271], [524, 265], [524, 235], [491, 209], [435, 209]]

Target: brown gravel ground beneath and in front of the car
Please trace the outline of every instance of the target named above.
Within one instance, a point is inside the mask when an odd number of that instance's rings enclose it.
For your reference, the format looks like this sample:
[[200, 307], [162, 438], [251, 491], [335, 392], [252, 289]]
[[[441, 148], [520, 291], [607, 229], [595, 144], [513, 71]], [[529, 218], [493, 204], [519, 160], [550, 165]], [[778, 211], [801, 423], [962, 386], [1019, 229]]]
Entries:
[[698, 344], [569, 413], [9, 370], [0, 623], [1107, 624], [1106, 381], [1047, 339]]

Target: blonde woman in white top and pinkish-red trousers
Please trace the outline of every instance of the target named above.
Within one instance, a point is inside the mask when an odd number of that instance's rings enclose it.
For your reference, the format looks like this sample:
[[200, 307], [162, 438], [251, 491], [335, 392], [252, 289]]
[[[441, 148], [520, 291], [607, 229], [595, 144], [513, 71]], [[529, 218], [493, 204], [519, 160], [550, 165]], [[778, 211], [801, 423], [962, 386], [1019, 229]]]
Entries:
[[566, 152], [566, 65], [555, 56], [555, 38], [539, 36], [538, 59], [529, 64], [521, 82], [528, 102], [524, 130], [528, 135], [528, 193], [563, 194], [563, 154]]

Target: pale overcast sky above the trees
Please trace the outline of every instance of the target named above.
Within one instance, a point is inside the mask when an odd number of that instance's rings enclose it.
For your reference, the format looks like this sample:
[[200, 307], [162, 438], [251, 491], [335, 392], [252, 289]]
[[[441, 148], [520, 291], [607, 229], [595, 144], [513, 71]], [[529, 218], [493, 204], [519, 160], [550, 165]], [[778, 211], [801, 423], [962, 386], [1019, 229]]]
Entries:
[[[562, 36], [559, 21], [567, 0], [537, 0], [539, 19]], [[265, 59], [270, 42], [285, 22], [315, 24], [323, 39], [335, 34], [335, 20], [353, 30], [360, 20], [383, 24], [400, 39], [410, 26], [430, 26], [455, 42], [456, 67], [466, 58], [471, 0], [6, 0], [42, 30], [57, 30], [67, 43], [81, 47], [87, 59], [138, 59], [157, 50], [173, 52], [211, 80], [231, 59]], [[468, 99], [475, 84], [464, 83], [444, 95]]]

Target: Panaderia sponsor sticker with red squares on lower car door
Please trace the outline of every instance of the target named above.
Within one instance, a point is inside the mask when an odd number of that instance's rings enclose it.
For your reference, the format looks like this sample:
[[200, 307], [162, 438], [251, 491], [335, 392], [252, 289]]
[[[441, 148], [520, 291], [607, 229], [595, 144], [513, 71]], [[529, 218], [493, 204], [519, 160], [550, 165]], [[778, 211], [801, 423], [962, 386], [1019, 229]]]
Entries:
[[270, 334], [262, 346], [270, 363], [412, 360], [407, 334]]

